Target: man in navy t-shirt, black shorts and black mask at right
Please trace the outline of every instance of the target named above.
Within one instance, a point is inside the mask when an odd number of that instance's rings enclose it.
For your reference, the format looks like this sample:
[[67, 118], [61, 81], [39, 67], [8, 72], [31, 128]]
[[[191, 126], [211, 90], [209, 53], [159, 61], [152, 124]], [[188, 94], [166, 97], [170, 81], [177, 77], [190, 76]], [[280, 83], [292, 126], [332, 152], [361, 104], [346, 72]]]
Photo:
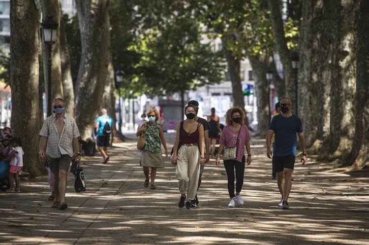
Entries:
[[[306, 162], [306, 143], [302, 130], [301, 119], [291, 113], [291, 99], [283, 98], [281, 104], [281, 114], [273, 117], [270, 122], [268, 133], [266, 134], [267, 156], [272, 158], [277, 174], [278, 188], [282, 194], [281, 202], [278, 204], [283, 209], [288, 209], [288, 196], [292, 186], [292, 172], [296, 158], [296, 133], [300, 139], [302, 165]], [[271, 137], [275, 134], [273, 153], [270, 149]]]

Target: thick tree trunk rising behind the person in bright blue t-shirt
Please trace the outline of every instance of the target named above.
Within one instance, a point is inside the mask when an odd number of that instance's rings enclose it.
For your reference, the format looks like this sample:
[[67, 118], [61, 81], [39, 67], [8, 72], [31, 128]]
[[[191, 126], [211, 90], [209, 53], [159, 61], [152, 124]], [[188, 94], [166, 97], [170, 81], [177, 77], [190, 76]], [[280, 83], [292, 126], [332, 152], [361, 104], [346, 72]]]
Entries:
[[90, 136], [103, 103], [110, 57], [110, 1], [76, 1], [82, 55], [77, 79], [76, 121], [82, 138]]

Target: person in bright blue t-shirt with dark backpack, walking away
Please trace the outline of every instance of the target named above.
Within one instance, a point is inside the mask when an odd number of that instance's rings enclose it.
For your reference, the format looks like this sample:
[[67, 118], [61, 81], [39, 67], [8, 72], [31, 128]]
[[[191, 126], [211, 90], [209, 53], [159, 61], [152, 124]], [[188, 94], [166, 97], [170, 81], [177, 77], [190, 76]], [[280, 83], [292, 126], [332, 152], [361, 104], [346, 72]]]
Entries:
[[103, 155], [103, 162], [106, 164], [109, 161], [108, 147], [110, 146], [110, 137], [113, 142], [113, 119], [108, 116], [108, 111], [103, 108], [100, 111], [101, 116], [95, 121], [95, 132], [97, 134], [97, 144], [101, 155]]

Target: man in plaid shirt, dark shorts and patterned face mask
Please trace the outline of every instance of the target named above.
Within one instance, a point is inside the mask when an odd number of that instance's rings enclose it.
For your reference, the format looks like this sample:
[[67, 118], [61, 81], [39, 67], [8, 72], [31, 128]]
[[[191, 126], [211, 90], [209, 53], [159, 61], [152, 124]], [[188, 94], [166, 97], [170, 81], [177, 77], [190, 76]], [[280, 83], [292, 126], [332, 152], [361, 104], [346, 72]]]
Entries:
[[53, 114], [46, 118], [40, 131], [40, 151], [42, 160], [48, 161], [54, 176], [55, 201], [51, 207], [66, 209], [67, 173], [71, 158], [79, 161], [79, 130], [74, 118], [64, 112], [62, 98], [52, 102]]

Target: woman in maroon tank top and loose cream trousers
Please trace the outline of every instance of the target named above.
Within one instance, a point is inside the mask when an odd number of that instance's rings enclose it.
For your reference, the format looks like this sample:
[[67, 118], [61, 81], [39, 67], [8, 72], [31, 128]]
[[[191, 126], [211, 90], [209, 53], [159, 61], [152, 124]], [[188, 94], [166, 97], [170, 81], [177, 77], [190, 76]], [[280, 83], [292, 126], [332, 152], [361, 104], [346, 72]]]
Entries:
[[[178, 207], [185, 205], [187, 193], [187, 209], [192, 209], [196, 204], [195, 195], [199, 181], [200, 165], [205, 164], [204, 126], [195, 121], [195, 112], [193, 106], [185, 108], [187, 119], [177, 125], [171, 158], [172, 164], [177, 164], [175, 177], [178, 180], [178, 189], [181, 194]], [[180, 148], [178, 150], [179, 144]]]

